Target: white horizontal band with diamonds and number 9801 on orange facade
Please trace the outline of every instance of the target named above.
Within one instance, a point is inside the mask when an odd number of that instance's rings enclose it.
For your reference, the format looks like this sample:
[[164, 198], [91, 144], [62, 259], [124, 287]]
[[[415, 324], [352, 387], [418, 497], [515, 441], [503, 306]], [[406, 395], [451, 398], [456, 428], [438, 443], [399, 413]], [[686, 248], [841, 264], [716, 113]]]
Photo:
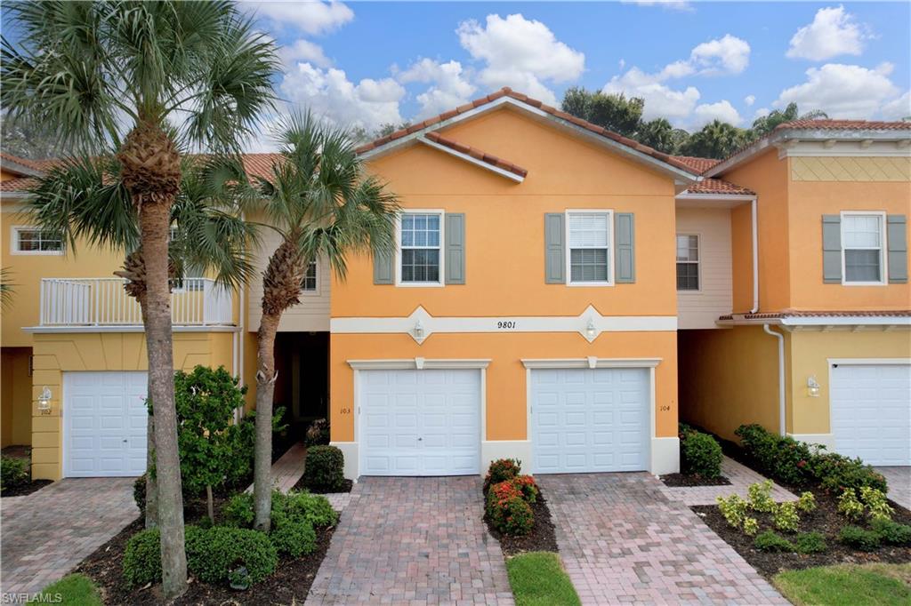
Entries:
[[602, 332], [649, 332], [677, 330], [676, 316], [602, 316], [590, 306], [578, 316], [490, 316], [435, 318], [418, 306], [407, 318], [332, 318], [334, 334], [408, 334], [418, 343], [435, 332], [517, 333], [578, 332], [593, 341]]

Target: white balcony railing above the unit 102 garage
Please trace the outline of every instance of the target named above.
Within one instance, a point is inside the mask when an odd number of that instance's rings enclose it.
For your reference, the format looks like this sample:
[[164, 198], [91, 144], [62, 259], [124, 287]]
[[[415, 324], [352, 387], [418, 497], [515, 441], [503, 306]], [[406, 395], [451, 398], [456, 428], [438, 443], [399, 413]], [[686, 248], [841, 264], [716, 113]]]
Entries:
[[[41, 326], [142, 326], [121, 278], [42, 278]], [[231, 291], [209, 278], [184, 278], [171, 294], [175, 326], [233, 323]]]

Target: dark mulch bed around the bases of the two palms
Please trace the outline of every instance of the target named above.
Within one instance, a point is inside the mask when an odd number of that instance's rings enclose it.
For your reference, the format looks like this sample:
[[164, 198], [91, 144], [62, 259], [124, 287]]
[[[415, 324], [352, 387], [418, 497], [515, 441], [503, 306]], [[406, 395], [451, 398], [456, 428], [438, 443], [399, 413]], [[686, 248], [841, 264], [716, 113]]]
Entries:
[[[225, 499], [215, 499], [215, 510], [220, 511]], [[205, 500], [192, 500], [185, 508], [187, 523], [200, 521], [206, 515]], [[218, 520], [218, 515], [216, 515]], [[142, 518], [138, 518], [117, 536], [95, 550], [83, 560], [75, 570], [82, 572], [95, 581], [102, 592], [106, 604], [161, 604], [161, 585], [130, 589], [123, 579], [123, 552], [130, 537], [144, 528]], [[275, 573], [265, 581], [254, 585], [247, 591], [234, 591], [227, 586], [210, 585], [202, 582], [189, 583], [189, 589], [177, 601], [171, 602], [186, 606], [189, 604], [302, 604], [310, 591], [316, 572], [320, 569], [323, 557], [329, 550], [335, 527], [316, 529], [316, 550], [295, 560], [279, 560]]]

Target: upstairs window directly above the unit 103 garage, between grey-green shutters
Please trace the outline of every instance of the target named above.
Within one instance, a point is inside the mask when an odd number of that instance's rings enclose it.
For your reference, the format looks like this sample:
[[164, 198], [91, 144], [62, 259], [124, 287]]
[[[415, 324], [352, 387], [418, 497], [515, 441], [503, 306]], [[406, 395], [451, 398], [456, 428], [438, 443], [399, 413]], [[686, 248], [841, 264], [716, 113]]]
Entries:
[[402, 215], [402, 283], [440, 283], [440, 225], [440, 213], [409, 212]]

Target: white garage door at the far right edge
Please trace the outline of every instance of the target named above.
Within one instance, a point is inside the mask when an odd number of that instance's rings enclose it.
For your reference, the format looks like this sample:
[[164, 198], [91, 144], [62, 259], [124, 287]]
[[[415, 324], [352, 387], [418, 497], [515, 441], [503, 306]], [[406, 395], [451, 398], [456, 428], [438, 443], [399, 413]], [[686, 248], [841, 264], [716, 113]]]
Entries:
[[911, 465], [911, 364], [838, 364], [831, 377], [835, 452]]

